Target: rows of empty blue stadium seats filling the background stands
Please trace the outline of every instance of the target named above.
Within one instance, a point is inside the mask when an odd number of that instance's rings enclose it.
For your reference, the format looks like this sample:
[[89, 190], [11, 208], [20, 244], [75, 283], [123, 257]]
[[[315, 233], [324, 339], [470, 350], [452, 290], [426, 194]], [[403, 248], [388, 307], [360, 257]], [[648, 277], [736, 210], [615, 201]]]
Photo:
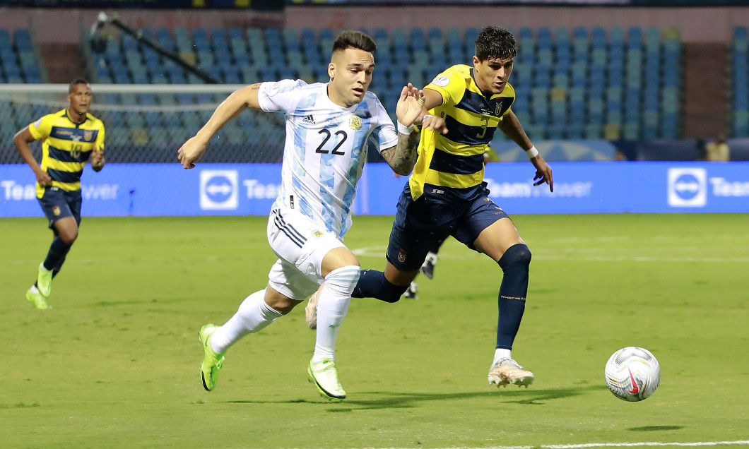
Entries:
[[[169, 52], [204, 69], [218, 82], [249, 84], [301, 78], [327, 81], [333, 43], [330, 30], [279, 28], [157, 28], [140, 30]], [[452, 64], [470, 64], [478, 28], [376, 28], [371, 90], [394, 111], [405, 82], [427, 84]], [[512, 106], [536, 140], [679, 138], [682, 91], [681, 41], [673, 28], [519, 28], [519, 52], [510, 79]], [[747, 28], [731, 42], [734, 137], [749, 135]], [[202, 84], [203, 81], [154, 49], [122, 34], [101, 52], [85, 48], [89, 76], [97, 83]], [[0, 29], [0, 81], [42, 82], [39, 52], [27, 31]], [[121, 109], [97, 112], [112, 144], [174, 144], [184, 141], [225, 94], [105, 94], [97, 103]], [[46, 112], [46, 106], [0, 99], [3, 139]], [[163, 106], [172, 106], [163, 109]], [[150, 109], [150, 110], [149, 110]], [[225, 142], [282, 140], [279, 117], [247, 114], [223, 130]], [[9, 120], [10, 118], [10, 120]], [[501, 135], [501, 133], [497, 133]], [[503, 136], [498, 137], [500, 139]]]

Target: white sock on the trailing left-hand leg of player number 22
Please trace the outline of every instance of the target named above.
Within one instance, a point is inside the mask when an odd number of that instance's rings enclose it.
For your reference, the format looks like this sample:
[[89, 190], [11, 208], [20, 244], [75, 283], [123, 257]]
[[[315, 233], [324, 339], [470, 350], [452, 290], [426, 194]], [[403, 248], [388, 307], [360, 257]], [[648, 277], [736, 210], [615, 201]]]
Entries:
[[210, 337], [210, 347], [215, 352], [223, 354], [231, 345], [237, 343], [247, 334], [258, 332], [273, 323], [282, 314], [265, 303], [265, 290], [247, 296], [234, 317], [213, 332]]

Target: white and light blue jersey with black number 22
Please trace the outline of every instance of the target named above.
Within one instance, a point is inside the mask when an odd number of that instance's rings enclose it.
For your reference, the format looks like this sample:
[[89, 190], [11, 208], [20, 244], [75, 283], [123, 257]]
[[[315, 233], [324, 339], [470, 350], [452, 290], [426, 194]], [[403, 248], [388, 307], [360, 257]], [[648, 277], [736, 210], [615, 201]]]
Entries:
[[394, 147], [398, 131], [375, 94], [344, 108], [327, 96], [327, 83], [264, 82], [258, 102], [266, 112], [283, 112], [286, 143], [277, 203], [299, 210], [342, 238], [351, 227], [351, 204], [367, 156]]

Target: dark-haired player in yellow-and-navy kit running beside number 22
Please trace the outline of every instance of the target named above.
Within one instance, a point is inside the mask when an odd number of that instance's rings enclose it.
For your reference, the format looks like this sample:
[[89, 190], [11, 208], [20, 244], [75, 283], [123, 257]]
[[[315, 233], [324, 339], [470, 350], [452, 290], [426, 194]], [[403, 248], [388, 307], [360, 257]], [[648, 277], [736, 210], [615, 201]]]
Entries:
[[515, 37], [504, 28], [484, 28], [476, 38], [473, 67], [456, 65], [424, 88], [427, 114], [441, 117], [447, 132], [422, 130], [419, 156], [405, 186], [390, 234], [384, 272], [364, 270], [354, 297], [396, 302], [425, 260], [430, 246], [453, 236], [482, 252], [503, 271], [499, 320], [490, 385], [530, 385], [533, 373], [512, 358], [512, 342], [525, 310], [530, 250], [515, 224], [488, 197], [484, 153], [499, 128], [530, 156], [534, 185], [554, 190], [551, 168], [510, 109], [509, 84]]

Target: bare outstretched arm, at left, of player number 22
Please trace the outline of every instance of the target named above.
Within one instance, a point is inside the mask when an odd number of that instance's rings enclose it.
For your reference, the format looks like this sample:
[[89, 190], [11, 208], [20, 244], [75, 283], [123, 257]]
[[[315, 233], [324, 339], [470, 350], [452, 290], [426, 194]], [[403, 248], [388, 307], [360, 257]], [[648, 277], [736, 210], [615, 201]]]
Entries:
[[180, 163], [184, 168], [195, 167], [207, 147], [208, 141], [216, 135], [226, 123], [237, 117], [247, 108], [261, 110], [258, 102], [258, 91], [262, 83], [255, 83], [245, 88], [237, 89], [216, 108], [213, 115], [203, 127], [189, 138], [177, 151]]

